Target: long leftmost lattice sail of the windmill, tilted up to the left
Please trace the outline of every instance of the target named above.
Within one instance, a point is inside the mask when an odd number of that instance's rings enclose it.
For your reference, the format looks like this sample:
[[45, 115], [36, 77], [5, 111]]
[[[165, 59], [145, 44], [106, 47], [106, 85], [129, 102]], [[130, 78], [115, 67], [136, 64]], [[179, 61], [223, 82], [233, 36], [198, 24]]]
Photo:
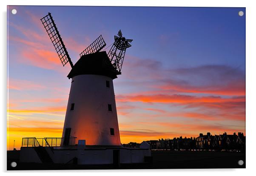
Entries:
[[61, 63], [63, 64], [63, 67], [68, 62], [70, 63], [71, 67], [73, 68], [73, 63], [68, 55], [68, 51], [63, 43], [62, 38], [60, 37], [60, 33], [57, 30], [56, 24], [51, 16], [51, 13], [48, 13], [45, 17], [41, 18], [41, 21], [43, 23], [44, 28], [46, 29], [46, 32], [48, 36], [51, 39], [51, 42], [57, 51], [57, 54], [60, 58]]

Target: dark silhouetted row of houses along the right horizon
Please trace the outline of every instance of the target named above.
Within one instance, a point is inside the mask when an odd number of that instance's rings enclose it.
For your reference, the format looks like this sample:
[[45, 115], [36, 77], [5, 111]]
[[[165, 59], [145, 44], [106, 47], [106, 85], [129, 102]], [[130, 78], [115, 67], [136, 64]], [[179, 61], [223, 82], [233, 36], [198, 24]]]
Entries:
[[[183, 138], [174, 137], [173, 139], [159, 139], [146, 141], [150, 145], [151, 150], [222, 150], [222, 149], [245, 149], [245, 136], [242, 132], [238, 134], [227, 134], [226, 132], [219, 135], [211, 135], [208, 132], [206, 135], [200, 133], [198, 137]], [[136, 142], [123, 144], [125, 147], [139, 148]]]

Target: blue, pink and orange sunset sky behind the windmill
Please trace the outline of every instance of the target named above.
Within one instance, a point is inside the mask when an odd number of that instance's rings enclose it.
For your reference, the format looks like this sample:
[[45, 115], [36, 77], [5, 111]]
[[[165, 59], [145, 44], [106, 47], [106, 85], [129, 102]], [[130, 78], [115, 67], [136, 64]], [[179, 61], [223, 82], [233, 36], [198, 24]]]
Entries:
[[40, 21], [48, 12], [73, 63], [100, 34], [107, 46], [119, 29], [134, 39], [114, 79], [122, 143], [245, 133], [241, 10], [9, 6], [7, 149], [14, 140], [19, 149], [22, 137], [62, 134], [71, 67], [62, 66]]

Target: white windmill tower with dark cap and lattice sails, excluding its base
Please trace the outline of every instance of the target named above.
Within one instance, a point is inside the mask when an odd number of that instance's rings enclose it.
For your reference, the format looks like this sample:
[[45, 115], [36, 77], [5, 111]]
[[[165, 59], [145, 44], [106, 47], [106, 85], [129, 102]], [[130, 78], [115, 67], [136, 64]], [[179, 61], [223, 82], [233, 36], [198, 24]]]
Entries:
[[64, 145], [68, 145], [72, 136], [86, 140], [87, 145], [121, 145], [113, 79], [121, 74], [125, 51], [131, 47], [132, 39], [125, 39], [120, 30], [107, 54], [101, 51], [106, 43], [100, 35], [73, 64], [51, 13], [41, 21], [61, 63], [65, 66], [69, 62], [71, 66]]

